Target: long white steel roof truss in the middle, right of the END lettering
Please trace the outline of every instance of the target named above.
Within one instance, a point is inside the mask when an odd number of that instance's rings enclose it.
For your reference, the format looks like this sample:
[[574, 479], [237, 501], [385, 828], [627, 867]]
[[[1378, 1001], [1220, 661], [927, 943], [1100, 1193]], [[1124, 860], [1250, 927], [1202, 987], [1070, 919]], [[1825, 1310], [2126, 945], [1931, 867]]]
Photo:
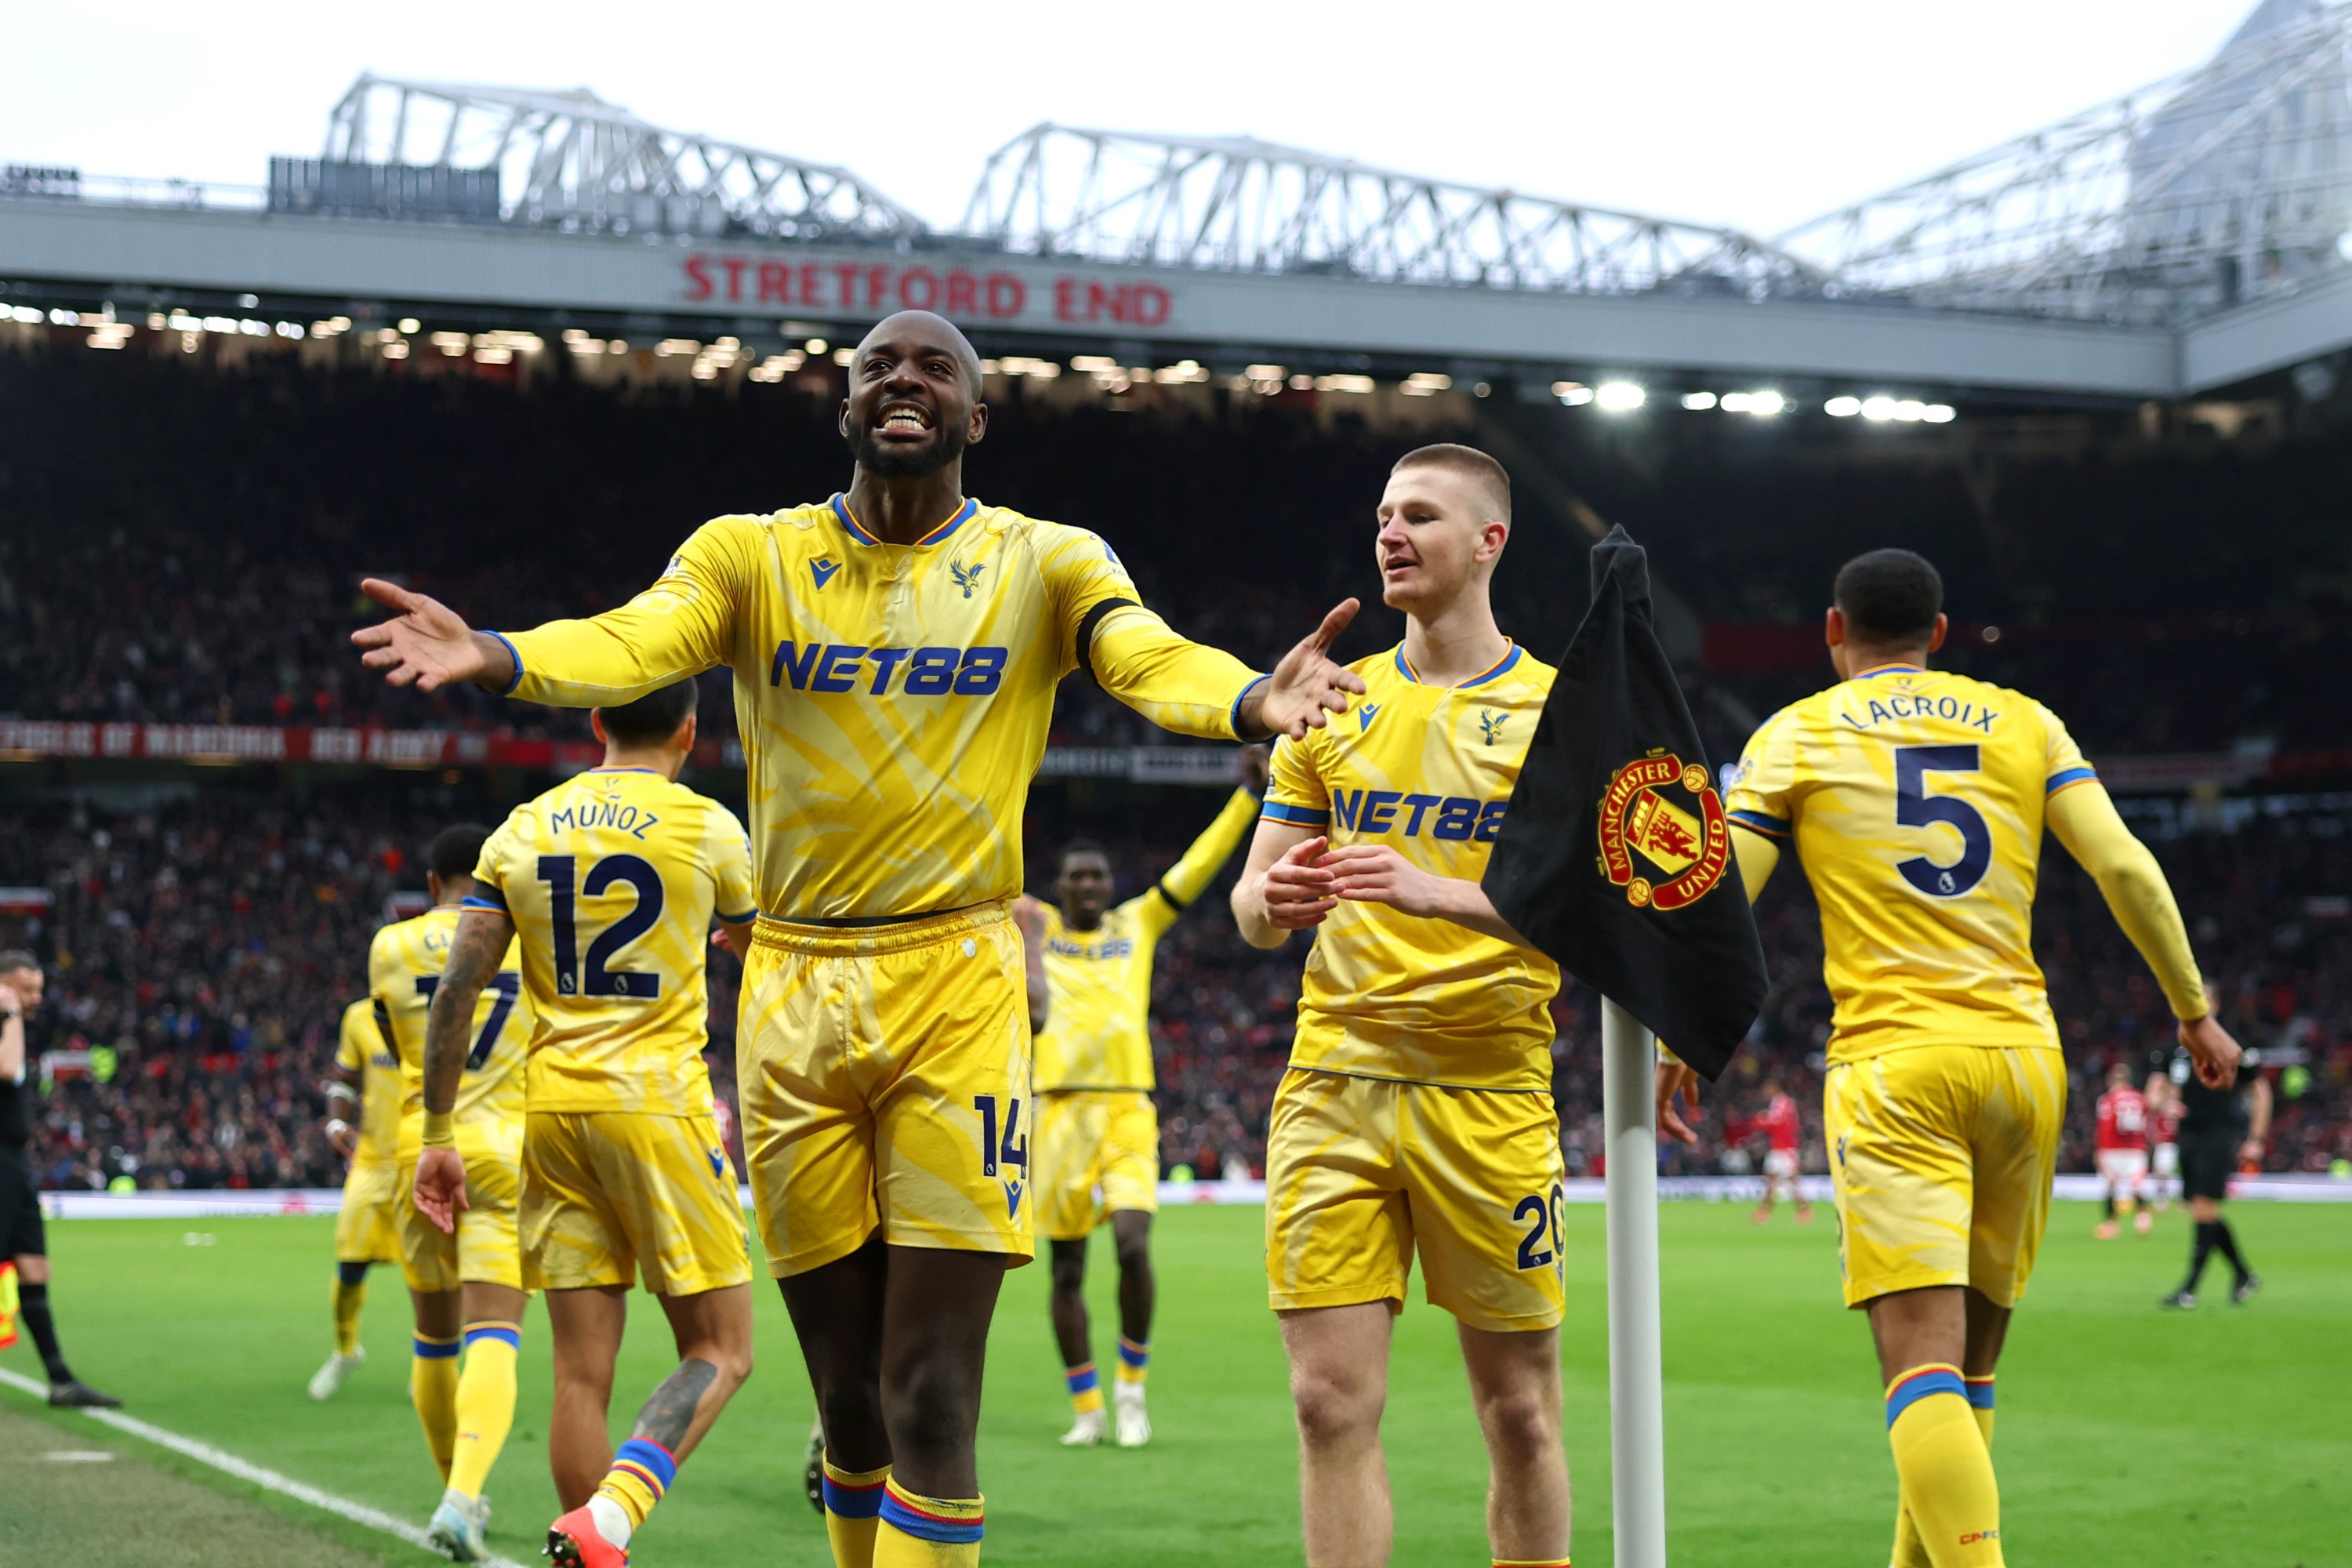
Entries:
[[990, 153], [964, 235], [993, 249], [1221, 273], [1564, 294], [1816, 296], [1755, 235], [1456, 186], [1251, 136], [1035, 125]]

